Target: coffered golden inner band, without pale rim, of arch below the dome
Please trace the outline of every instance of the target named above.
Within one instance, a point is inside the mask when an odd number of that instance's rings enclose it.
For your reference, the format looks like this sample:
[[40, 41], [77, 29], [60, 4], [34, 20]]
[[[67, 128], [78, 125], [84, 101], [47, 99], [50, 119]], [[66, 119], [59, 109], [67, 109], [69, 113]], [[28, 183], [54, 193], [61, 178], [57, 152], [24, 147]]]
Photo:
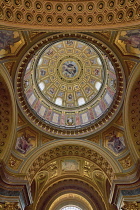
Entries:
[[[27, 172], [29, 181], [33, 181], [35, 175], [46, 165], [46, 162], [48, 164], [50, 161], [55, 162], [58, 157], [67, 157], [71, 159], [76, 157], [84, 157], [85, 159], [90, 160], [96, 164], [106, 174], [110, 181], [114, 179], [113, 168], [102, 155], [86, 147], [78, 145], [63, 145], [44, 152], [36, 160], [34, 160]], [[54, 173], [56, 173], [56, 167], [53, 168]], [[88, 172], [90, 173], [90, 169]]]

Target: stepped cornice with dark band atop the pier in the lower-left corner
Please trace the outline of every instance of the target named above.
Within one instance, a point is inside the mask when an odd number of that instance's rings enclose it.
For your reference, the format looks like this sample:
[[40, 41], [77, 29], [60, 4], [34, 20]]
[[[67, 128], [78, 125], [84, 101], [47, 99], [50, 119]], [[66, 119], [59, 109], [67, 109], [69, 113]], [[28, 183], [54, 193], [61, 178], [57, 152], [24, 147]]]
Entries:
[[4, 203], [6, 210], [17, 206], [17, 202], [22, 210], [32, 203], [31, 189], [25, 176], [10, 174], [2, 162], [0, 163], [0, 188], [1, 205]]

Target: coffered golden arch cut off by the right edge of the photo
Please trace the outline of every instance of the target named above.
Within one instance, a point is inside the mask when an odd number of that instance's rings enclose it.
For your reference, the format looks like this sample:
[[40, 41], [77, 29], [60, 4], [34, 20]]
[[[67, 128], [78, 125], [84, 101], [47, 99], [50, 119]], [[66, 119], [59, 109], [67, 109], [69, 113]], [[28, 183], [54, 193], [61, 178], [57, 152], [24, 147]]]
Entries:
[[135, 161], [140, 157], [140, 64], [130, 75], [124, 104], [125, 133]]

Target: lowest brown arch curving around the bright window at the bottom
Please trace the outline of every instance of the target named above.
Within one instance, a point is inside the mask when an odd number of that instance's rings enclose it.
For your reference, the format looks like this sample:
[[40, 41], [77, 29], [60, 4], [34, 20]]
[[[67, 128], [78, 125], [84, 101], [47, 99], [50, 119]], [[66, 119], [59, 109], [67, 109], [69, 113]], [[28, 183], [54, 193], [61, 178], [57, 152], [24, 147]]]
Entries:
[[56, 197], [69, 192], [83, 196], [95, 210], [106, 210], [103, 198], [92, 185], [77, 179], [63, 179], [47, 186], [38, 199], [35, 209], [41, 210], [45, 206], [45, 210], [47, 210]]

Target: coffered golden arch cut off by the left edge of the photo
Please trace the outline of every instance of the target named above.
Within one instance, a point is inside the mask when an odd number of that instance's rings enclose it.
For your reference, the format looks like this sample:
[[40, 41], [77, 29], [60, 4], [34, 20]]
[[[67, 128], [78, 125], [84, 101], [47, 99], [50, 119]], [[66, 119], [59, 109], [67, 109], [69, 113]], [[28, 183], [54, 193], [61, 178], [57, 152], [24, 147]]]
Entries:
[[13, 147], [17, 127], [16, 98], [7, 70], [0, 64], [0, 115], [1, 115], [1, 142], [0, 157], [5, 162]]

